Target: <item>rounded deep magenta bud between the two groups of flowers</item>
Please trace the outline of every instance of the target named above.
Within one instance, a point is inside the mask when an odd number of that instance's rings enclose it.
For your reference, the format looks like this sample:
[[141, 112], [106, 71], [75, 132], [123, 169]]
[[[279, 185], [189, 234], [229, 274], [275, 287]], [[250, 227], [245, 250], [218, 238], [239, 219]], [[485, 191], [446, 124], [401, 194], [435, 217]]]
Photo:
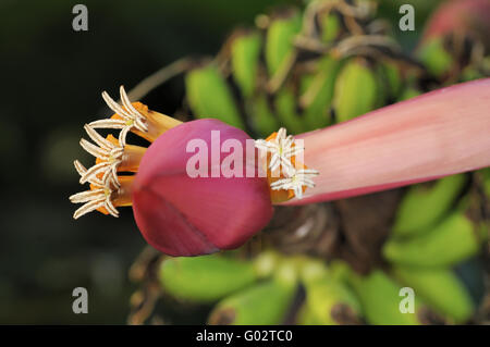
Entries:
[[[145, 239], [172, 256], [196, 256], [236, 248], [260, 231], [272, 216], [267, 179], [262, 177], [195, 177], [186, 163], [194, 153], [187, 142], [208, 144], [211, 170], [211, 131], [221, 144], [237, 139], [245, 150], [249, 137], [216, 120], [179, 125], [161, 135], [145, 153], [133, 190], [133, 211]], [[219, 163], [228, 153], [219, 154]], [[244, 170], [245, 153], [243, 153]]]

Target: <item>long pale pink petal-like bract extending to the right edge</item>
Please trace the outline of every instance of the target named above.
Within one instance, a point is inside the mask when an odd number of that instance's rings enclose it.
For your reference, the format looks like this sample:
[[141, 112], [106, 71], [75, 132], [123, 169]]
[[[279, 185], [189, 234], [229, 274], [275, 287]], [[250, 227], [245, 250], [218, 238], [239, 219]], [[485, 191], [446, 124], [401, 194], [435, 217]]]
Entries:
[[490, 165], [490, 78], [436, 90], [298, 136], [320, 172], [309, 203], [395, 188]]

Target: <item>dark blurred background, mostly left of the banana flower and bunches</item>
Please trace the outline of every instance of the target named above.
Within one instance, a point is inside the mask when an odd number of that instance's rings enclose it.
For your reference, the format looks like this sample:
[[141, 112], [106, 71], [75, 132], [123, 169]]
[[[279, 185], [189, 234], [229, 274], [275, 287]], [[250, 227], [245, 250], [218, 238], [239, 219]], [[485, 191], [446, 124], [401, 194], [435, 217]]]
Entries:
[[[400, 4], [416, 5], [418, 29], [399, 33], [406, 50], [437, 2], [382, 1], [393, 23]], [[88, 32], [72, 29], [76, 3], [88, 8]], [[232, 28], [285, 3], [303, 2], [0, 0], [1, 324], [125, 323], [127, 269], [145, 243], [128, 208], [73, 221], [68, 197], [83, 188], [73, 160], [93, 160], [78, 146], [82, 126], [109, 114], [102, 90], [115, 98], [181, 57], [215, 54]], [[143, 101], [171, 115], [183, 95], [175, 78]], [[89, 314], [72, 312], [77, 286]]]

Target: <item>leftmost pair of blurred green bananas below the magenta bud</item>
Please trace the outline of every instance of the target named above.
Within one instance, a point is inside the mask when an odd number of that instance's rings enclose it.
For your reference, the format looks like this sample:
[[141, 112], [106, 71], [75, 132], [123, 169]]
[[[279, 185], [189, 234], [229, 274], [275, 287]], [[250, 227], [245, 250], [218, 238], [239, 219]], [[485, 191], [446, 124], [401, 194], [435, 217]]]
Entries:
[[210, 324], [279, 324], [296, 295], [296, 267], [274, 252], [254, 260], [233, 253], [167, 258], [159, 280], [175, 299], [215, 305]]

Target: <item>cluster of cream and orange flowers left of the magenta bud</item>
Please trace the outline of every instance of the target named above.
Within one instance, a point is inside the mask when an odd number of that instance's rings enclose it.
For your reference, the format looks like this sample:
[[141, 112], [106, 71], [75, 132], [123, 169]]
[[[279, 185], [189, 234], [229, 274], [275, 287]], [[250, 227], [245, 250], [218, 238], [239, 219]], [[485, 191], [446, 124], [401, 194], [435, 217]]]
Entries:
[[[131, 190], [134, 175], [118, 175], [118, 173], [137, 172], [146, 148], [127, 145], [128, 132], [152, 142], [168, 129], [182, 124], [168, 115], [148, 110], [140, 102], [132, 103], [123, 86], [120, 87], [120, 95], [122, 104], [103, 91], [103, 100], [115, 114], [110, 119], [95, 121], [84, 126], [95, 144], [84, 138], [79, 144], [96, 158], [96, 162], [87, 170], [82, 163], [75, 161], [75, 169], [81, 176], [79, 183], [90, 184], [90, 190], [70, 197], [74, 203], [84, 203], [75, 211], [75, 219], [95, 210], [118, 216], [115, 207], [132, 205]], [[96, 131], [98, 128], [119, 129], [118, 139], [112, 135], [102, 137]]]

